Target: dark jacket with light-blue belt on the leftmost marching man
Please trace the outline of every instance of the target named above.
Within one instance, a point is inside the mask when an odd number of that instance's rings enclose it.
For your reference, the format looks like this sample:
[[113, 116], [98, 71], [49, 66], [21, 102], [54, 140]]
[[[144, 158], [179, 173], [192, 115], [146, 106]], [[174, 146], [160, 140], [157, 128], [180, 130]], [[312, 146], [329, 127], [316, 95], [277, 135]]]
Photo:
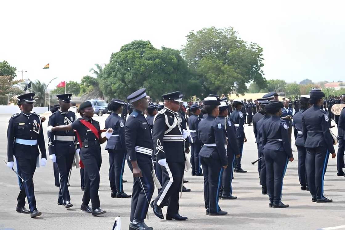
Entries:
[[37, 145], [42, 154], [41, 158], [47, 158], [41, 118], [36, 113], [14, 114], [8, 124], [7, 140], [8, 161], [13, 161], [13, 156], [37, 157], [39, 155]]

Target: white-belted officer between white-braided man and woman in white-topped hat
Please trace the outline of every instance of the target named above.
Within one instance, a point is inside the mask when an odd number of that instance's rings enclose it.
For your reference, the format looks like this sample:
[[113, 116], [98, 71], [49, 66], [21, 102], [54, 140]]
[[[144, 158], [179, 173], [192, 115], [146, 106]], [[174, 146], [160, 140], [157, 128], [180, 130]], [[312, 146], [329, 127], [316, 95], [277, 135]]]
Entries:
[[201, 149], [201, 143], [199, 141], [198, 135], [198, 124], [199, 124], [199, 114], [201, 112], [199, 104], [195, 103], [190, 108], [189, 111], [192, 115], [188, 118], [188, 127], [190, 132], [190, 164], [192, 166], [192, 176], [203, 176], [200, 168], [200, 158], [199, 152]]

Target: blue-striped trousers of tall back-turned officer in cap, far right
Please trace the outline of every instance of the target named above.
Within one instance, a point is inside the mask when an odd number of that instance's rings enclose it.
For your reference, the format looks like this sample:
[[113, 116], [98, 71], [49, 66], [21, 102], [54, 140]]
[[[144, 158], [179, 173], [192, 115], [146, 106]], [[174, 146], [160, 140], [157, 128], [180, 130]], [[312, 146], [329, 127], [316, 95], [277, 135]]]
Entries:
[[309, 191], [316, 199], [323, 198], [324, 175], [329, 154], [327, 147], [307, 149], [307, 178]]

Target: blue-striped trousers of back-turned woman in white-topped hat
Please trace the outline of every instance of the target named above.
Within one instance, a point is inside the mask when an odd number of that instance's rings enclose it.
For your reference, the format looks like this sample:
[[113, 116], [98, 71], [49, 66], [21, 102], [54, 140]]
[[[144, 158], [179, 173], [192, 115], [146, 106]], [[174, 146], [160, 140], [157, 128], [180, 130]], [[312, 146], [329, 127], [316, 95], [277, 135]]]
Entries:
[[223, 168], [221, 167], [220, 160], [212, 156], [209, 158], [201, 157], [201, 165], [204, 171], [205, 208], [209, 209], [210, 213], [217, 213], [220, 211], [218, 194], [222, 181]]

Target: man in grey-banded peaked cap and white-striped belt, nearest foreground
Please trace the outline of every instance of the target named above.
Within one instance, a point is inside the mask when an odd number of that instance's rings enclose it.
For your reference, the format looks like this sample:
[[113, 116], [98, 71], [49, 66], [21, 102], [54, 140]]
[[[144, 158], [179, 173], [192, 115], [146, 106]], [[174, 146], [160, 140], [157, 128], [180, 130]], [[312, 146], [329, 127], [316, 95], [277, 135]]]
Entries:
[[127, 162], [134, 177], [130, 230], [153, 229], [144, 222], [155, 189], [152, 178], [151, 129], [143, 114], [148, 107], [145, 90], [139, 89], [127, 97], [134, 107], [125, 124]]

